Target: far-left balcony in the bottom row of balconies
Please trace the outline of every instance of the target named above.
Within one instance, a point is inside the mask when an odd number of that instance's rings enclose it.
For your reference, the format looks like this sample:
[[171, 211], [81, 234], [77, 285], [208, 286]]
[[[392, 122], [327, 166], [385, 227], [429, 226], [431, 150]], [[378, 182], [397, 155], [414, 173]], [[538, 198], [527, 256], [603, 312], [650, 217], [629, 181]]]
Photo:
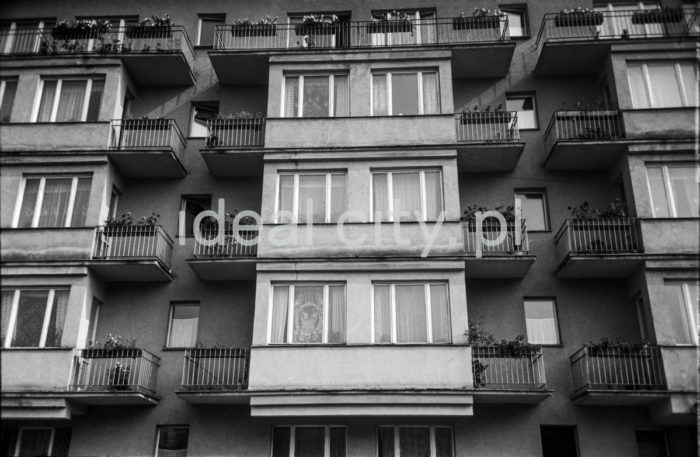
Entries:
[[155, 405], [159, 365], [143, 349], [76, 349], [68, 398], [85, 405]]

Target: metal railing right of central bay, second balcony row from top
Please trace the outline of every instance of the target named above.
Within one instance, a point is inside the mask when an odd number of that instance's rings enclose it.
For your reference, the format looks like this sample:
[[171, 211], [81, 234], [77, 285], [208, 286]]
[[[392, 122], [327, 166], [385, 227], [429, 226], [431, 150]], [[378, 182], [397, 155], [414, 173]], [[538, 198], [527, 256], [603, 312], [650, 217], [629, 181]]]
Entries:
[[515, 111], [466, 111], [455, 114], [458, 143], [518, 141]]

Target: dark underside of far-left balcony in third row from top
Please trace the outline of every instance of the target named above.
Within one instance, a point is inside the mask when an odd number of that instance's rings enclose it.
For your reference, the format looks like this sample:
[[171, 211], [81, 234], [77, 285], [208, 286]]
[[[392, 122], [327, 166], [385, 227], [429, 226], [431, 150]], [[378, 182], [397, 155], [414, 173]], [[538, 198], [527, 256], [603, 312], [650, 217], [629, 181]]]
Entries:
[[92, 260], [90, 269], [107, 282], [167, 282], [172, 273], [156, 259]]

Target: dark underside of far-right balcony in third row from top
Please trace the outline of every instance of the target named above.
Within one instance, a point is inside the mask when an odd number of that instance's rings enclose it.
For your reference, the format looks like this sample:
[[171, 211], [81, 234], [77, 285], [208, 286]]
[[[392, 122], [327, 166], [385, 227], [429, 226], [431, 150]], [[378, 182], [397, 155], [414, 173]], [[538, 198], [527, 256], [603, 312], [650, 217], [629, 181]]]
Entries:
[[644, 256], [639, 254], [569, 255], [559, 265], [559, 278], [627, 278]]

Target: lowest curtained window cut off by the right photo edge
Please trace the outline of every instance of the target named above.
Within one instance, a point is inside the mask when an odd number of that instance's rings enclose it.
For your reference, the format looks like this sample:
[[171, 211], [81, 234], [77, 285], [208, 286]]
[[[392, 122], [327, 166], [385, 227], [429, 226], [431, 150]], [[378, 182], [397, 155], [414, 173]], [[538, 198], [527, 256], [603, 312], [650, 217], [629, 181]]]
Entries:
[[664, 285], [670, 294], [669, 321], [677, 344], [697, 344], [700, 334], [698, 302], [700, 283], [695, 281], [667, 282]]

